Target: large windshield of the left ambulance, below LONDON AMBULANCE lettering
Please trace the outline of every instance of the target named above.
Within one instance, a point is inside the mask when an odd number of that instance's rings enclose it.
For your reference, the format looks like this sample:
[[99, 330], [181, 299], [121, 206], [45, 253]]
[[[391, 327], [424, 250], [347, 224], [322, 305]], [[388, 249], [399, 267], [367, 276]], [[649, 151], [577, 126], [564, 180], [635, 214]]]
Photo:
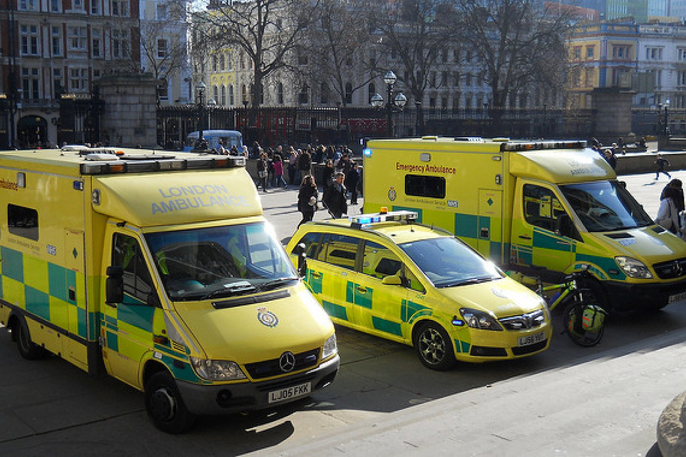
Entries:
[[246, 295], [298, 280], [265, 223], [148, 233], [145, 240], [172, 301]]

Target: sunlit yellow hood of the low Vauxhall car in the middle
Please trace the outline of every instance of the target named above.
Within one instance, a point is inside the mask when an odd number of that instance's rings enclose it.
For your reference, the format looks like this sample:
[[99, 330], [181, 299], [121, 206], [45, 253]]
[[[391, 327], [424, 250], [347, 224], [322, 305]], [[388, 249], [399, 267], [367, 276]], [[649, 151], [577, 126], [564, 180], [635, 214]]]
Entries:
[[519, 282], [504, 277], [500, 280], [438, 289], [454, 301], [457, 308], [473, 308], [495, 315], [510, 317], [539, 310], [543, 299]]

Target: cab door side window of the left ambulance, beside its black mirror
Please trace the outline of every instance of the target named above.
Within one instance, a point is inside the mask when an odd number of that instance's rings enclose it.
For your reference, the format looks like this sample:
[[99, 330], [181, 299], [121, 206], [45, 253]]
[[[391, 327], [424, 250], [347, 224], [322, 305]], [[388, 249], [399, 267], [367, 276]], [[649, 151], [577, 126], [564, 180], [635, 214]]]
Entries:
[[136, 238], [117, 233], [113, 239], [112, 264], [124, 269], [123, 304], [147, 305], [154, 293], [152, 277]]

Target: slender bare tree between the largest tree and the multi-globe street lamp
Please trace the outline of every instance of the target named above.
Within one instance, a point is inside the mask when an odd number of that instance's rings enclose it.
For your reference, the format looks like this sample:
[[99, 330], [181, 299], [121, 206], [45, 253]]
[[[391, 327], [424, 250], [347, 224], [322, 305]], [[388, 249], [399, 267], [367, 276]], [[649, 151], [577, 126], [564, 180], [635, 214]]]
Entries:
[[374, 77], [364, 55], [371, 40], [366, 11], [368, 4], [361, 0], [321, 0], [320, 19], [309, 28], [305, 50], [312, 59], [309, 77], [331, 87], [342, 106], [349, 103], [348, 95]]

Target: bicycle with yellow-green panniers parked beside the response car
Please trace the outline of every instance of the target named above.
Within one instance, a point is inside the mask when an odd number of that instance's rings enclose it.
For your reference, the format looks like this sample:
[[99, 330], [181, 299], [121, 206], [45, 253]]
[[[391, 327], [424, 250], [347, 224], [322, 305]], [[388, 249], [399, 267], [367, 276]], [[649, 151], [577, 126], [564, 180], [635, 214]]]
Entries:
[[[600, 343], [605, 331], [607, 312], [598, 304], [589, 288], [579, 285], [584, 284], [584, 280], [592, 278], [588, 266], [584, 265], [582, 269], [565, 276], [565, 280], [560, 284], [544, 285], [541, 275], [532, 278], [521, 273], [513, 273], [510, 276], [527, 286], [535, 284], [534, 291], [545, 299], [549, 310], [552, 311], [563, 304], [563, 333], [566, 333], [571, 341], [582, 347], [592, 347]], [[535, 282], [532, 283], [532, 280]], [[553, 291], [555, 293], [548, 297], [547, 295]]]

